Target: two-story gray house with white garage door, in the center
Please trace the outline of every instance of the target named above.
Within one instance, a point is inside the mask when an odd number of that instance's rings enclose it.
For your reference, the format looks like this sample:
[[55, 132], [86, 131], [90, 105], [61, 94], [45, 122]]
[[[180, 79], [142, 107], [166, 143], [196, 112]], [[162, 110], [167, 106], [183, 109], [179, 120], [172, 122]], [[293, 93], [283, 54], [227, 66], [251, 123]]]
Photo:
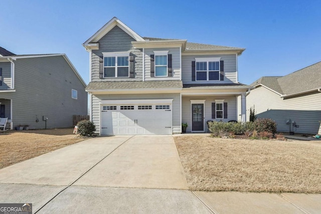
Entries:
[[244, 49], [140, 37], [117, 18], [83, 46], [90, 53], [90, 118], [100, 135], [206, 132], [208, 120], [237, 120]]

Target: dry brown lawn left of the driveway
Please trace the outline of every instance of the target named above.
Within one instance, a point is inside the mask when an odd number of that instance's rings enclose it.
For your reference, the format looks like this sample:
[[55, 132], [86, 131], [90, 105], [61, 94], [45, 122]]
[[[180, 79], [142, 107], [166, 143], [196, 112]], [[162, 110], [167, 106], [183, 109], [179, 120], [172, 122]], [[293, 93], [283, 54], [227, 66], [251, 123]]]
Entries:
[[73, 128], [0, 132], [0, 168], [84, 140]]

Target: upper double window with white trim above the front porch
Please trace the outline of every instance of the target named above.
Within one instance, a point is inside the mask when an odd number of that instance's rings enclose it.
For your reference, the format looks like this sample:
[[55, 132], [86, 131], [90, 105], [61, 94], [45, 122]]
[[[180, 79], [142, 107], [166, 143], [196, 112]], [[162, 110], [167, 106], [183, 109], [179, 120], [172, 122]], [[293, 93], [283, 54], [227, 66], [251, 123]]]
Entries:
[[196, 81], [220, 80], [220, 58], [195, 58]]

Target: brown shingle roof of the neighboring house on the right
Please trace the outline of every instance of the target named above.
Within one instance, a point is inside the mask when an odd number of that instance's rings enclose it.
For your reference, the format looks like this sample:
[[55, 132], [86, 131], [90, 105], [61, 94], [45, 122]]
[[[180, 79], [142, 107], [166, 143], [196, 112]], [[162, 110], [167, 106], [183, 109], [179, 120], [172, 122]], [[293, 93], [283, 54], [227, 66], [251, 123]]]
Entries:
[[321, 88], [321, 62], [283, 77], [261, 77], [251, 85], [262, 84], [282, 95], [297, 94]]

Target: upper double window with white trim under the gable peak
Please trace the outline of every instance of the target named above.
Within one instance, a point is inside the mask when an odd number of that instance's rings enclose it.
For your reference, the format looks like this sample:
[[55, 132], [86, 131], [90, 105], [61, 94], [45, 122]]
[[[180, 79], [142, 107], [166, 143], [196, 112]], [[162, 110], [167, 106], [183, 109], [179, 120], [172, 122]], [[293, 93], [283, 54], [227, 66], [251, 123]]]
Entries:
[[104, 77], [129, 77], [129, 52], [103, 53]]

